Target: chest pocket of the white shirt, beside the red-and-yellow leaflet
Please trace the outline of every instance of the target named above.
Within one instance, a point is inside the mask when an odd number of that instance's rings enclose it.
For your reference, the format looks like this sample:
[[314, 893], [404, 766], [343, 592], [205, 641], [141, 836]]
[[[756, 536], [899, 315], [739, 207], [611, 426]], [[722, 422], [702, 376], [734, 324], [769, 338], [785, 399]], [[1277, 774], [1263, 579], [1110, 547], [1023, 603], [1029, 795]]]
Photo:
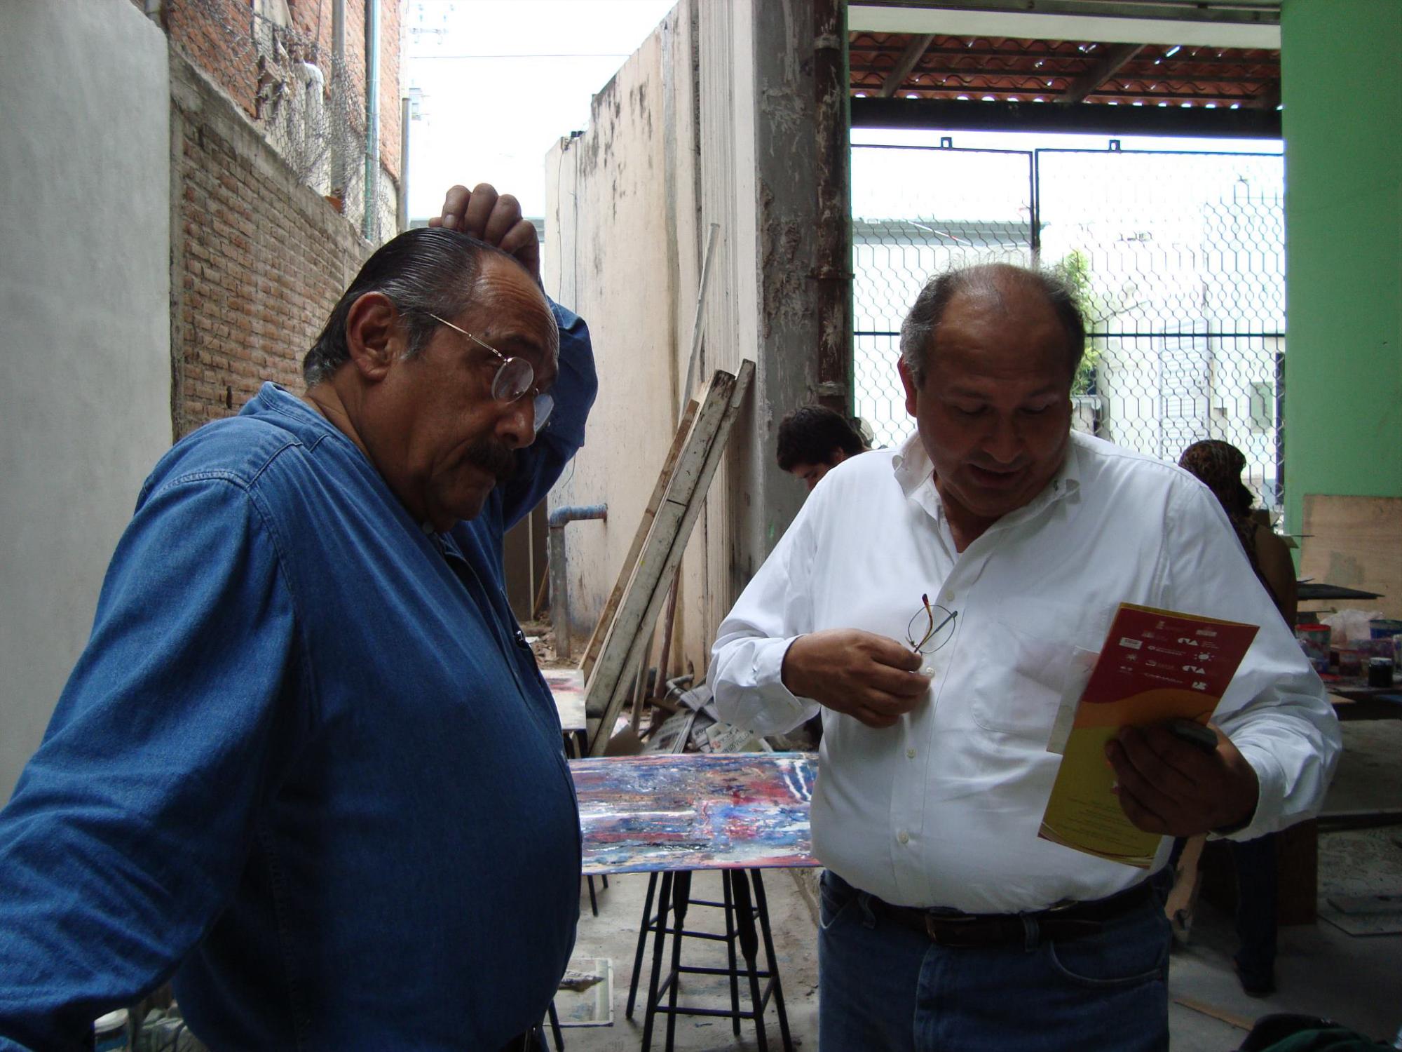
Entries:
[[[1046, 745], [1073, 680], [1085, 677], [1078, 648], [1085, 612], [1046, 599], [1007, 599], [980, 633], [970, 676], [974, 722]], [[1082, 683], [1084, 685], [1084, 683]]]

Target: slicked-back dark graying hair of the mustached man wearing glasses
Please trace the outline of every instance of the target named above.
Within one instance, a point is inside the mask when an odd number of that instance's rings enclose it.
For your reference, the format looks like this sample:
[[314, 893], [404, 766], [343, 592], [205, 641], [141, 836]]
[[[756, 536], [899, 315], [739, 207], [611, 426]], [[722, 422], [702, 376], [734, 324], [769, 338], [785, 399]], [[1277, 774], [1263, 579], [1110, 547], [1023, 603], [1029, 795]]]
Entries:
[[346, 318], [360, 296], [379, 292], [394, 303], [407, 334], [404, 356], [414, 358], [428, 345], [439, 324], [430, 316], [451, 318], [472, 306], [482, 259], [488, 255], [516, 262], [495, 245], [442, 227], [407, 230], [386, 241], [365, 261], [350, 288], [341, 293], [325, 328], [301, 359], [307, 387], [325, 383], [350, 360]]

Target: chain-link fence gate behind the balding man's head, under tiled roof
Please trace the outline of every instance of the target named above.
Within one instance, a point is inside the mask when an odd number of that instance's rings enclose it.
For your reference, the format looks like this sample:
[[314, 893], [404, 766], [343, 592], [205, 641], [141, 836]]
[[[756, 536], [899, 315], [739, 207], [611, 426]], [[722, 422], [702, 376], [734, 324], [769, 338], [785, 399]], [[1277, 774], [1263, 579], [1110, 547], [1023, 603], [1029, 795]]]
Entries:
[[1088, 314], [1074, 425], [1175, 461], [1225, 439], [1279, 513], [1283, 182], [1280, 154], [854, 147], [857, 415], [913, 429], [897, 334], [931, 275], [1036, 259]]

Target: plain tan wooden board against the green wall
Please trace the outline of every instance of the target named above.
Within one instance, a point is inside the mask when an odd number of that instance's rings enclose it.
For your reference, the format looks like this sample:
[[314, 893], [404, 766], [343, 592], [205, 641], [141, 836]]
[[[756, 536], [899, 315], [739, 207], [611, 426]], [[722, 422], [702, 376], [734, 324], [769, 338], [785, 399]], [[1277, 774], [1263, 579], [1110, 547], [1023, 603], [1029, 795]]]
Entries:
[[1300, 576], [1380, 592], [1333, 606], [1402, 617], [1402, 497], [1305, 494]]

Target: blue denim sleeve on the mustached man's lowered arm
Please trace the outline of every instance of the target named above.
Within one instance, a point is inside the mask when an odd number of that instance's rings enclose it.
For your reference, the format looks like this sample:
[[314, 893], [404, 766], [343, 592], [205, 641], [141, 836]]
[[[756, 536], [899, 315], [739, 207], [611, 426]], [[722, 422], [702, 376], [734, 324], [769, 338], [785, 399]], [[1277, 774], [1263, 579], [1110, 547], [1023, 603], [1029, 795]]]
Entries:
[[[273, 533], [205, 474], [143, 501], [45, 739], [0, 812], [0, 1049], [91, 1048], [231, 896], [304, 735]], [[282, 757], [282, 759], [279, 759]]]

